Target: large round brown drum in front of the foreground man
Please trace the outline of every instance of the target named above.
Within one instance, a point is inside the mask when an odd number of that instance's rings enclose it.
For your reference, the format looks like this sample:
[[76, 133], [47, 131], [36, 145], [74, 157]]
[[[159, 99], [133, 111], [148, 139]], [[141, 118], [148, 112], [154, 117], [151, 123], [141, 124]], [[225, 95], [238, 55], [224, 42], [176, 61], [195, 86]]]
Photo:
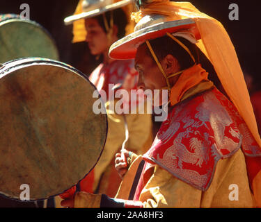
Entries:
[[[76, 69], [42, 58], [0, 67], [0, 193], [49, 198], [93, 169], [106, 141], [106, 114], [95, 114], [95, 86]], [[102, 100], [100, 99], [101, 104]]]

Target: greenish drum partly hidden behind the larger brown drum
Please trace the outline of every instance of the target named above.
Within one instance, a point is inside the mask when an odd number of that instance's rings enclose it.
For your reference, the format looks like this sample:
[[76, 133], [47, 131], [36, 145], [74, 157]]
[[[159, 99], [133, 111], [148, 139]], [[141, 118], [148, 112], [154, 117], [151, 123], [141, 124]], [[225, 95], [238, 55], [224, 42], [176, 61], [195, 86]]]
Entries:
[[40, 24], [19, 15], [0, 15], [0, 63], [25, 57], [59, 60], [51, 35]]

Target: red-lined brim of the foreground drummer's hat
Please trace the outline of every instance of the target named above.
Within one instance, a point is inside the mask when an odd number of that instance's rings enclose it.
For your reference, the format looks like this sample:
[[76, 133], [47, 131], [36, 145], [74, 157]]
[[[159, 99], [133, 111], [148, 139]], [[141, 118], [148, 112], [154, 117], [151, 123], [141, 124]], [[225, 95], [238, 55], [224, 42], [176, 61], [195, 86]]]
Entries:
[[[161, 22], [142, 28], [114, 42], [109, 49], [109, 57], [118, 60], [133, 59], [136, 56], [138, 47], [145, 42], [145, 40], [152, 40], [157, 37], [162, 37], [166, 33], [176, 33], [182, 30], [189, 30], [196, 37], [196, 40], [200, 39], [198, 28], [196, 28], [196, 23], [193, 19]], [[162, 44], [164, 44], [164, 42], [162, 42]]]

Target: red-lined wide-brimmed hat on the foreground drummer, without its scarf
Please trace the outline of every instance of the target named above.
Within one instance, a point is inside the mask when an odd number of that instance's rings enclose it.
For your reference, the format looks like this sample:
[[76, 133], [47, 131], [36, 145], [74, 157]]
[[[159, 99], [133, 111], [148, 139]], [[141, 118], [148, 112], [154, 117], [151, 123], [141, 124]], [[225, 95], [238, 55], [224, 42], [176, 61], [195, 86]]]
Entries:
[[[180, 19], [173, 21], [164, 15], [145, 15], [131, 33], [117, 42], [113, 43], [109, 50], [109, 56], [114, 59], [135, 58], [137, 48], [145, 42], [166, 33], [183, 33], [184, 38], [200, 39], [198, 28], [193, 19]], [[164, 44], [164, 43], [163, 43]]]

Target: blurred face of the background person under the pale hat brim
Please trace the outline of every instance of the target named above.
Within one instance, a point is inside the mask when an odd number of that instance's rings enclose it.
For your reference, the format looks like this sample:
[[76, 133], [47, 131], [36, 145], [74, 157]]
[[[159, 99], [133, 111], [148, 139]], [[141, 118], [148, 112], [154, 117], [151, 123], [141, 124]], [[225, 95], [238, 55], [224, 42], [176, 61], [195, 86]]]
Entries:
[[108, 49], [108, 39], [106, 33], [96, 19], [85, 19], [87, 31], [86, 42], [90, 48], [90, 53], [100, 55]]

